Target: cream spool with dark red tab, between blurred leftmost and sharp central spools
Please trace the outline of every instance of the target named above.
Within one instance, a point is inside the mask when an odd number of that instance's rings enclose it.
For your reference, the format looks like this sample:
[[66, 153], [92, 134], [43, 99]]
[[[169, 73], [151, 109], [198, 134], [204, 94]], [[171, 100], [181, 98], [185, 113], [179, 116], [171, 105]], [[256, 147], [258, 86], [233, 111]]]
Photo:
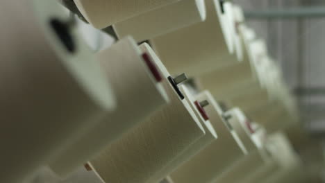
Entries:
[[163, 76], [131, 37], [97, 53], [97, 60], [112, 82], [118, 106], [51, 162], [50, 167], [62, 177], [98, 155], [168, 101], [161, 84]]

